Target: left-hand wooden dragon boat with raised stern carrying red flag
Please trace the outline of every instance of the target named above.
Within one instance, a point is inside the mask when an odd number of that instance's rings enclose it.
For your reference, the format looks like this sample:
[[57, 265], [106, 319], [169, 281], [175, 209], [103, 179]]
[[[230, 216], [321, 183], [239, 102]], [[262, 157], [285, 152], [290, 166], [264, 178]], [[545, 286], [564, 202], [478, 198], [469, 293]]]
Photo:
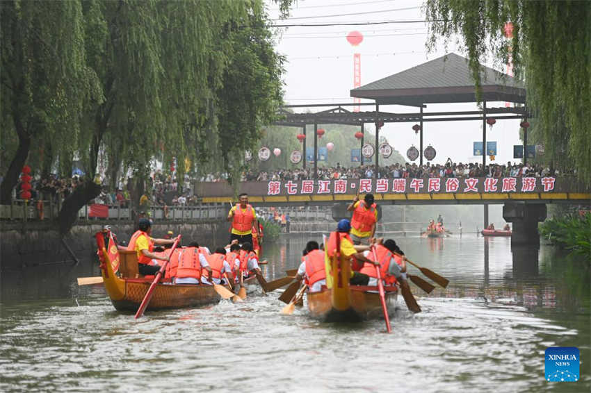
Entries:
[[[138, 258], [135, 251], [124, 251], [115, 245], [111, 233], [108, 248], [105, 247], [104, 232], [95, 235], [101, 260], [101, 274], [111, 303], [120, 312], [136, 312], [154, 276], [141, 276], [138, 272]], [[245, 285], [256, 283], [256, 277], [246, 278]], [[203, 307], [216, 304], [220, 295], [213, 285], [175, 285], [170, 278], [163, 278], [156, 285], [147, 310]]]

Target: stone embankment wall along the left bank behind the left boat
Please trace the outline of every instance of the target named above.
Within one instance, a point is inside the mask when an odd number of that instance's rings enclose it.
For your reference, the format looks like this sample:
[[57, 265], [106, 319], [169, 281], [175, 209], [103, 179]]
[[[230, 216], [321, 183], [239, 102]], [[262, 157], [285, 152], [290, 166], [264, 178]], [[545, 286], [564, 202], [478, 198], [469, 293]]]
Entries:
[[[83, 221], [75, 225], [65, 236], [66, 244], [81, 263], [94, 261], [96, 242], [94, 235], [104, 225], [111, 225], [111, 230], [119, 241], [129, 241], [136, 231], [132, 221]], [[224, 246], [229, 240], [229, 224], [226, 221], [203, 221], [187, 223], [180, 221], [156, 221], [152, 226], [153, 237], [163, 237], [167, 231], [175, 235], [181, 233], [181, 244], [197, 241], [213, 248]], [[22, 269], [42, 265], [61, 265], [72, 263], [74, 258], [60, 241], [56, 226], [45, 221], [8, 222], [0, 224], [0, 267]]]

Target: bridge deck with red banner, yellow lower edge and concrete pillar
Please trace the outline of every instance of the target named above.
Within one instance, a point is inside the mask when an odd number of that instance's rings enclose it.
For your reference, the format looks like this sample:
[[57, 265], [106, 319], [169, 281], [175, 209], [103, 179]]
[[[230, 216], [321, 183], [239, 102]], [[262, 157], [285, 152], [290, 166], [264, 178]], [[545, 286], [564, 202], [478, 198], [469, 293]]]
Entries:
[[[202, 203], [229, 203], [229, 183], [195, 183]], [[503, 204], [503, 218], [513, 223], [512, 242], [537, 243], [537, 223], [547, 203], [591, 203], [590, 187], [572, 176], [503, 178], [362, 178], [302, 181], [251, 181], [238, 185], [257, 206], [331, 206], [332, 217], [349, 217], [346, 204], [356, 194], [373, 193], [379, 205], [481, 204], [488, 226], [489, 204]]]

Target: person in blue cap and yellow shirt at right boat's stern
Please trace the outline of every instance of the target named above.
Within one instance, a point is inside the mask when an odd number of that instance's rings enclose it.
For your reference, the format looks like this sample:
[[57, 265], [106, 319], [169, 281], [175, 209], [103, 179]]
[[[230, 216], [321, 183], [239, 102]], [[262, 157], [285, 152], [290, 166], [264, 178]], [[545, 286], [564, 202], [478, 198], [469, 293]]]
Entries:
[[[367, 274], [360, 273], [359, 270], [363, 267], [364, 262], [368, 262], [377, 265], [378, 262], [373, 262], [369, 258], [364, 256], [363, 252], [368, 251], [371, 246], [364, 246], [361, 244], [353, 245], [353, 240], [349, 236], [351, 230], [351, 224], [348, 219], [341, 219], [337, 225], [337, 231], [330, 233], [328, 240], [325, 244], [326, 253], [329, 257], [334, 256], [334, 251], [337, 249], [337, 236], [340, 237], [340, 249], [341, 256], [350, 258], [351, 261], [351, 278], [349, 283], [351, 285], [367, 285], [369, 283], [369, 276]], [[371, 240], [371, 244], [375, 242]]]

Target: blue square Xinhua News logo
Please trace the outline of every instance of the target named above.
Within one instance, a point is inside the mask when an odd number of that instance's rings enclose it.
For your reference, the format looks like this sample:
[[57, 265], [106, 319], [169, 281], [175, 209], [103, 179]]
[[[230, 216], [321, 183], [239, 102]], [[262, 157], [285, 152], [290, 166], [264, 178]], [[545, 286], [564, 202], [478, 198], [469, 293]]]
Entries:
[[546, 349], [546, 381], [576, 382], [580, 375], [579, 351], [575, 346], [551, 346]]

